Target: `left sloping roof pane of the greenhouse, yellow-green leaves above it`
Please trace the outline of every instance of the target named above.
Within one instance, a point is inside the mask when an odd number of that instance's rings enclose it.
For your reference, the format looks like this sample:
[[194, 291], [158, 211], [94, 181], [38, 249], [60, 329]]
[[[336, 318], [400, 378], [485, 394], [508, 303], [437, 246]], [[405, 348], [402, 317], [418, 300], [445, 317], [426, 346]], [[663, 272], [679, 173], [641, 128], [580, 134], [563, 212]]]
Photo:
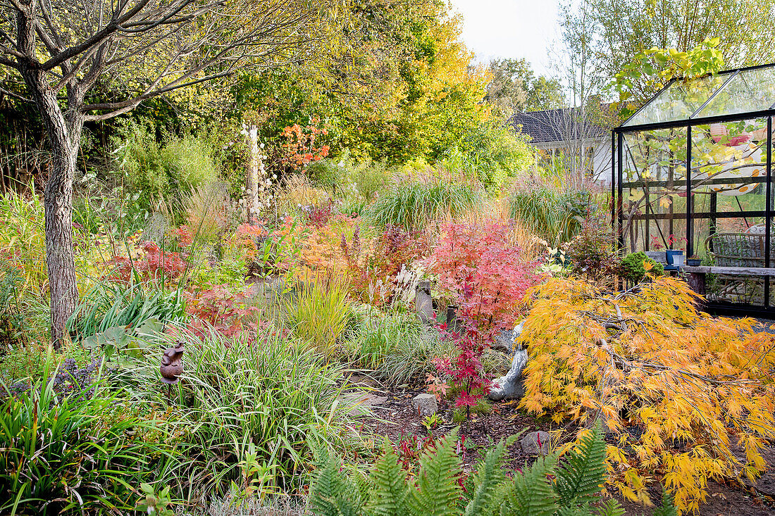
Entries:
[[652, 98], [624, 125], [638, 126], [688, 119], [728, 78], [729, 74], [718, 74], [691, 81], [677, 80]]

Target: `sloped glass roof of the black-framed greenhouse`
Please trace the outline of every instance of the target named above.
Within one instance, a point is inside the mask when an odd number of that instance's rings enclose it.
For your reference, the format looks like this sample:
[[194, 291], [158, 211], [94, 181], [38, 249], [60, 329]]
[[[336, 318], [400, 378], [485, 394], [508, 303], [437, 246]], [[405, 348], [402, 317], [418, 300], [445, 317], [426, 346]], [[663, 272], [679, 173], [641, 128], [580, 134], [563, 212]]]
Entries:
[[670, 80], [615, 132], [775, 115], [775, 64]]

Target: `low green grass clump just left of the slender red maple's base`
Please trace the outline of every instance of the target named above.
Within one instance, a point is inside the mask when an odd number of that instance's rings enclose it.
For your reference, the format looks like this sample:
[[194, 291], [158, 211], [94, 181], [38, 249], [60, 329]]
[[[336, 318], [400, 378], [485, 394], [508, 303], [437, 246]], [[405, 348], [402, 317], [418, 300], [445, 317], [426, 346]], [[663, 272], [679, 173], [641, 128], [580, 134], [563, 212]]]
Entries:
[[387, 385], [401, 385], [433, 371], [432, 359], [451, 344], [441, 342], [416, 314], [407, 313], [364, 319], [345, 346], [356, 366], [373, 370]]

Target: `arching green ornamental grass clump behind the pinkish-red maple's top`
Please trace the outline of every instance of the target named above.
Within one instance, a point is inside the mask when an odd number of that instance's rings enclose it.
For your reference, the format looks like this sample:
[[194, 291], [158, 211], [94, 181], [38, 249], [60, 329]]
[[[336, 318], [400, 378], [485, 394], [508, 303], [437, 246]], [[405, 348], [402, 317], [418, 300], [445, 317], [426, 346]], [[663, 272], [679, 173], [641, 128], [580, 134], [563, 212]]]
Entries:
[[461, 215], [479, 200], [479, 192], [470, 184], [401, 183], [384, 192], [367, 215], [381, 227], [392, 224], [412, 231], [446, 214]]

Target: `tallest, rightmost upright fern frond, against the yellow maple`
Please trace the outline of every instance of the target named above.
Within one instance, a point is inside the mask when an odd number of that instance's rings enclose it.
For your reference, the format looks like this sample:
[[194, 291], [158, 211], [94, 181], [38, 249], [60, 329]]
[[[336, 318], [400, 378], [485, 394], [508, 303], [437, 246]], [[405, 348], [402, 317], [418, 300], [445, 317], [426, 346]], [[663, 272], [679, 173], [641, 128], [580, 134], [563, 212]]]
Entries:
[[556, 491], [560, 505], [589, 504], [600, 496], [605, 480], [605, 441], [601, 421], [579, 440], [577, 449], [565, 455], [566, 463], [557, 472]]

